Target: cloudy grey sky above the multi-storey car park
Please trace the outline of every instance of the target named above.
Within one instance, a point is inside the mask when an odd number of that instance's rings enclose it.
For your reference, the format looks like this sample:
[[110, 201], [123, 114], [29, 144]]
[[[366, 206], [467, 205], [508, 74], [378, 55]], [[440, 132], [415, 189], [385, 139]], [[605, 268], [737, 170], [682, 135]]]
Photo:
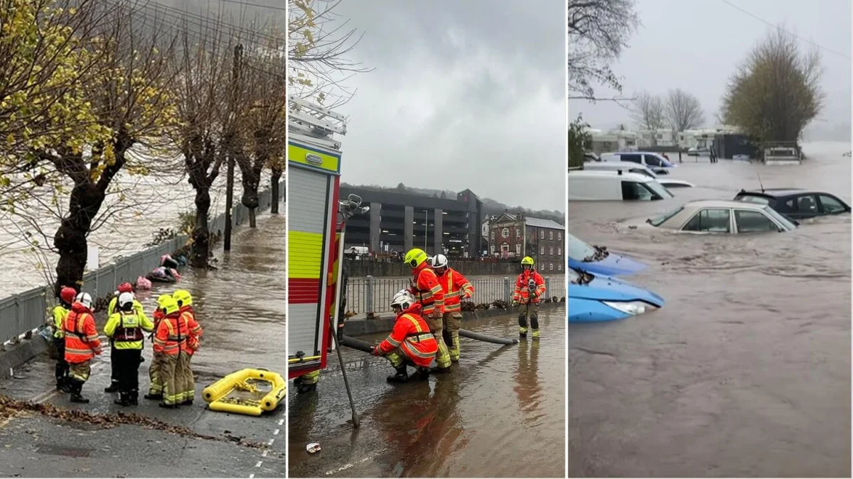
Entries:
[[350, 0], [365, 32], [348, 56], [340, 113], [343, 176], [354, 184], [470, 188], [533, 209], [565, 207], [565, 4]]

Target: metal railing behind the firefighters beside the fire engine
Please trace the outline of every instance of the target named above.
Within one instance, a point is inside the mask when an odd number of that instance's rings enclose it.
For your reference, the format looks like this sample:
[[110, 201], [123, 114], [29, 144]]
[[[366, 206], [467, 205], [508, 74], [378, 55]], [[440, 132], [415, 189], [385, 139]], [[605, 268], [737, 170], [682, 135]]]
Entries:
[[[544, 276], [546, 297], [566, 297], [566, 276]], [[473, 303], [512, 301], [515, 278], [471, 278]], [[346, 285], [346, 309], [358, 315], [388, 313], [394, 293], [409, 287], [409, 278], [350, 278]]]

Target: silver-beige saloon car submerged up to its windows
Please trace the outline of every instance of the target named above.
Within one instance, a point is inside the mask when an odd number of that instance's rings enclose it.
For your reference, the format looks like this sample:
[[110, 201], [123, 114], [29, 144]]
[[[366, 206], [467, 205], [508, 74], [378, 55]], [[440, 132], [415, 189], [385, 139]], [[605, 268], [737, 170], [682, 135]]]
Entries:
[[725, 199], [699, 199], [647, 219], [653, 227], [679, 233], [761, 233], [792, 231], [797, 225], [769, 205]]

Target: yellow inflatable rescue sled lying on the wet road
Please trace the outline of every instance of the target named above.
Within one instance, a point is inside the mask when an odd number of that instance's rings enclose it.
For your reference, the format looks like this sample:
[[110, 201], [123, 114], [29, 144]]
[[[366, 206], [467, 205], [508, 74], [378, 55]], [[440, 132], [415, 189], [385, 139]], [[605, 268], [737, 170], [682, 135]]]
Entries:
[[258, 368], [232, 372], [201, 395], [212, 411], [260, 416], [275, 410], [286, 391], [287, 381], [281, 374]]

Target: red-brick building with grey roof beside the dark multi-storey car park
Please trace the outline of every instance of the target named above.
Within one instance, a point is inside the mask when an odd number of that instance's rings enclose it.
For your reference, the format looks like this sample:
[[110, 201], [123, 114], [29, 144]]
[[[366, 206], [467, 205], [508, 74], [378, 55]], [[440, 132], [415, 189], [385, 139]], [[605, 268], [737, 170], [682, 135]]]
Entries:
[[489, 222], [489, 254], [501, 258], [532, 257], [539, 271], [563, 271], [566, 227], [553, 220], [503, 213]]

